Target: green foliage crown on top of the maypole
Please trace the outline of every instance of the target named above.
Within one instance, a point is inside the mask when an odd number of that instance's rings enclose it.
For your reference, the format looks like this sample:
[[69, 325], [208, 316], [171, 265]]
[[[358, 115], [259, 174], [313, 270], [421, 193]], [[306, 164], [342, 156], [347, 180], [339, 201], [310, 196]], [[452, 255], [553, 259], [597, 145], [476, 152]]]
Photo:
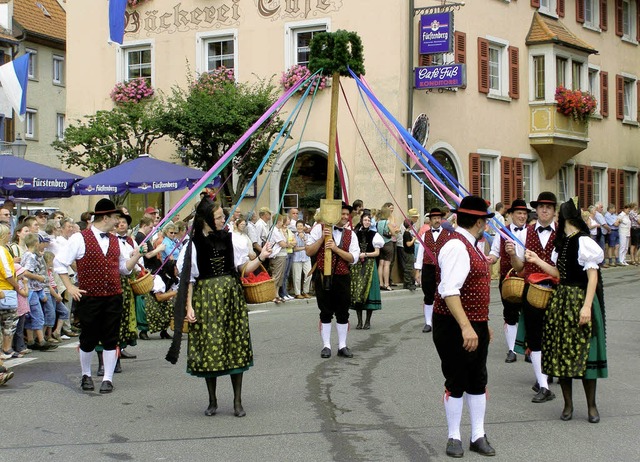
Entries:
[[315, 34], [310, 44], [309, 69], [323, 69], [325, 75], [338, 72], [350, 77], [348, 68], [356, 75], [364, 75], [362, 40], [355, 32], [337, 30]]

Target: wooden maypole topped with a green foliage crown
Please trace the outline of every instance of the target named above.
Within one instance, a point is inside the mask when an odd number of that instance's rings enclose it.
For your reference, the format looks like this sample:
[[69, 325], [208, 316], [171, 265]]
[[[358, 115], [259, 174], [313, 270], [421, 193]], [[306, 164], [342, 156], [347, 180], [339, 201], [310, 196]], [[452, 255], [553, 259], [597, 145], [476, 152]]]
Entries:
[[[336, 132], [338, 127], [338, 98], [340, 76], [349, 77], [349, 69], [357, 75], [364, 75], [364, 56], [362, 41], [355, 32], [338, 30], [316, 34], [310, 44], [309, 69], [316, 72], [322, 69], [332, 75], [331, 114], [329, 116], [329, 152], [327, 154], [326, 199], [320, 201], [320, 216], [325, 225], [338, 223], [342, 214], [342, 201], [334, 199]], [[329, 239], [327, 237], [326, 239]], [[326, 242], [326, 241], [325, 241]], [[324, 287], [331, 286], [331, 251], [324, 254]]]

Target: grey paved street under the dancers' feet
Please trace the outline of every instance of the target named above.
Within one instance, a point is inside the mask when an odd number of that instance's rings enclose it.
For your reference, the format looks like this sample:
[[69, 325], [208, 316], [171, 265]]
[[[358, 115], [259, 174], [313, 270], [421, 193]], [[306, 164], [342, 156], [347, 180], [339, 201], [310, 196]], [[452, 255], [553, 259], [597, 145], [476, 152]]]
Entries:
[[[604, 273], [610, 378], [599, 381], [598, 425], [586, 420], [577, 382], [570, 422], [559, 419], [557, 384], [555, 401], [530, 402], [531, 366], [522, 357], [504, 363], [502, 307], [493, 289], [486, 430], [494, 460], [638, 460], [639, 275], [633, 267]], [[29, 355], [32, 360], [15, 365], [16, 376], [0, 388], [0, 460], [447, 459], [443, 379], [431, 335], [421, 333], [421, 293], [384, 293], [372, 329], [349, 335], [352, 359], [320, 358], [314, 300], [252, 309], [255, 366], [245, 374], [247, 417], [233, 416], [226, 377], [218, 382], [218, 414], [205, 417], [204, 380], [185, 373], [184, 354], [175, 366], [166, 362], [169, 341], [157, 334], [130, 349], [138, 358], [123, 360], [114, 393], [82, 393], [74, 342], [67, 341], [56, 351]], [[335, 331], [332, 341], [335, 353]], [[463, 440], [469, 431], [465, 409]], [[482, 459], [467, 446], [466, 460]]]

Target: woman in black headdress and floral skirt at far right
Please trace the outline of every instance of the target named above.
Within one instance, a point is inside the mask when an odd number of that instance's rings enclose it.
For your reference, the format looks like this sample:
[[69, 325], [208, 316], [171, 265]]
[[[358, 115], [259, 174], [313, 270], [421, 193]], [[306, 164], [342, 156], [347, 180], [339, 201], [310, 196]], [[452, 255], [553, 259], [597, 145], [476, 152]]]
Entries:
[[528, 261], [560, 278], [545, 315], [542, 371], [559, 378], [564, 397], [562, 420], [573, 417], [573, 379], [582, 379], [588, 420], [598, 423], [596, 383], [608, 374], [602, 278], [598, 269], [604, 253], [589, 237], [577, 201], [562, 204], [559, 217], [554, 241], [557, 266], [543, 262], [534, 252], [526, 252]]

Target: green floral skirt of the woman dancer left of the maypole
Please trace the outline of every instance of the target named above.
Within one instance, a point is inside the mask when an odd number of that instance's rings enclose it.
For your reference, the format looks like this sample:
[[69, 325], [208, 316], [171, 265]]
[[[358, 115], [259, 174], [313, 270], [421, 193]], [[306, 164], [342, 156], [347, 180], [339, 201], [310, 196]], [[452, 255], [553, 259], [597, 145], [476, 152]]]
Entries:
[[191, 303], [196, 322], [189, 325], [187, 372], [218, 377], [253, 366], [249, 312], [238, 280], [233, 276], [199, 280]]

